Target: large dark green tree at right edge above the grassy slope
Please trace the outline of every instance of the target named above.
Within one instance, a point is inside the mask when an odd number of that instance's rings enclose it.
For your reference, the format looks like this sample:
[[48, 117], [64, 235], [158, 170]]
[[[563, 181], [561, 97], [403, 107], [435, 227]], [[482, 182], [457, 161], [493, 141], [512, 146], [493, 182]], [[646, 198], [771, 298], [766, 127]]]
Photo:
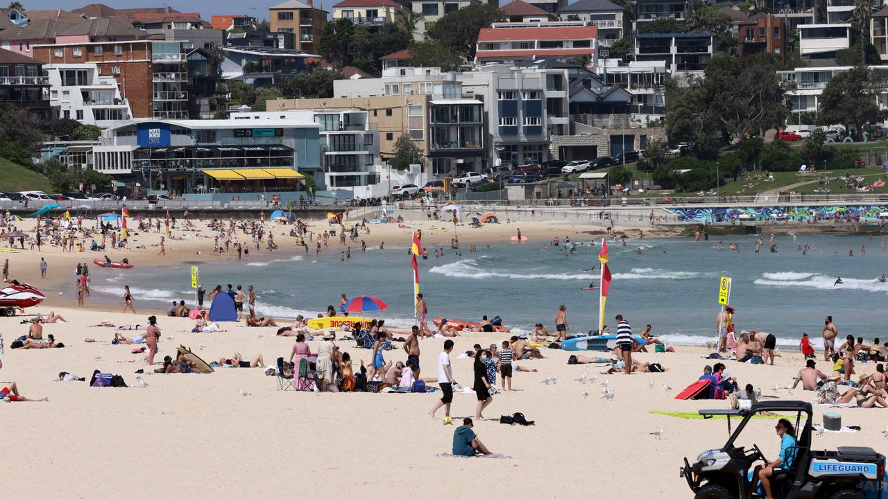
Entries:
[[884, 117], [879, 110], [878, 96], [885, 91], [881, 71], [866, 66], [852, 67], [833, 76], [823, 89], [818, 124], [848, 124], [860, 131], [863, 123], [876, 122]]

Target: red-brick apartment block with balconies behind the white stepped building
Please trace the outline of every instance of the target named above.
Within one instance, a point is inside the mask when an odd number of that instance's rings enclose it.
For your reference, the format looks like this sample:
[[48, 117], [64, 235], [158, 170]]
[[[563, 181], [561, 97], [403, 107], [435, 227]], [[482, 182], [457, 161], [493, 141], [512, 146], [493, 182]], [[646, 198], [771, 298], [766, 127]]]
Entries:
[[35, 59], [46, 64], [95, 64], [99, 76], [115, 78], [133, 117], [188, 117], [188, 74], [181, 42], [38, 44], [32, 50]]

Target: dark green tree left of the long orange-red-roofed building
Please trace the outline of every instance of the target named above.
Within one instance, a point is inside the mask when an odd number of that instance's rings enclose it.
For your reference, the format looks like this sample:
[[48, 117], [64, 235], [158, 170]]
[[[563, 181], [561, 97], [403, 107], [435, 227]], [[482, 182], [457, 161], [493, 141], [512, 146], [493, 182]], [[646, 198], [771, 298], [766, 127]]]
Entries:
[[473, 59], [481, 28], [489, 28], [492, 23], [504, 19], [505, 14], [494, 5], [472, 4], [435, 22], [428, 36], [448, 50]]

